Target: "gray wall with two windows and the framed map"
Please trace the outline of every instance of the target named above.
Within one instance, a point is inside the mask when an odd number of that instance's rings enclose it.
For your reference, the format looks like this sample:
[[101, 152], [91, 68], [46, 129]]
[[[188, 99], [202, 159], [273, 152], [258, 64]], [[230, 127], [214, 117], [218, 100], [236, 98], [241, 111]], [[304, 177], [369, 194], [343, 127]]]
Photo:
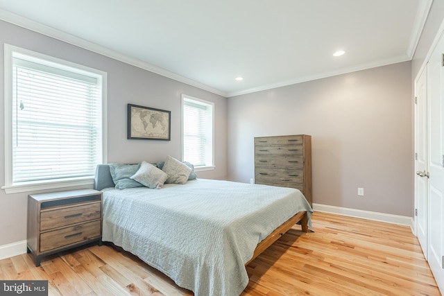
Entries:
[[[0, 21], [1, 57], [4, 56], [3, 43], [108, 72], [108, 162], [128, 163], [142, 160], [157, 162], [164, 160], [167, 155], [180, 159], [180, 95], [185, 93], [214, 102], [216, 169], [199, 172], [198, 176], [214, 179], [226, 177], [226, 98]], [[3, 58], [0, 59], [0, 65], [0, 69], [3, 69]], [[3, 75], [3, 71], [0, 71], [0, 94], [4, 93]], [[127, 103], [171, 110], [171, 141], [126, 139]], [[3, 112], [3, 103], [1, 103], [0, 114]], [[1, 155], [4, 155], [3, 124], [3, 120], [0, 120]], [[0, 184], [2, 185], [5, 180], [3, 168], [4, 157], [0, 157]], [[28, 193], [6, 194], [5, 191], [0, 190], [0, 246], [26, 239], [27, 195]]]

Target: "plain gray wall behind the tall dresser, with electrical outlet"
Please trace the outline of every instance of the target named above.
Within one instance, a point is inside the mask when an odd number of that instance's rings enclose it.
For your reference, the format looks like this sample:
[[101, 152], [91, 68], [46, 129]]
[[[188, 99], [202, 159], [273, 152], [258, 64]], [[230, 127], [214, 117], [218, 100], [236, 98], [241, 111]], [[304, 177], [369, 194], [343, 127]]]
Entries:
[[228, 98], [228, 177], [254, 177], [254, 137], [311, 134], [314, 203], [413, 216], [411, 92], [402, 62]]

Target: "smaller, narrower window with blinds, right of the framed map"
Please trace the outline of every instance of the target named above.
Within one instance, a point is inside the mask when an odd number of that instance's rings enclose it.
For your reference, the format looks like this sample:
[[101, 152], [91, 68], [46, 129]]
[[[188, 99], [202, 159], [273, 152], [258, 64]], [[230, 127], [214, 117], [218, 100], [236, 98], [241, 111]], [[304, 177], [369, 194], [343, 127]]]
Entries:
[[182, 95], [182, 160], [214, 168], [214, 103]]

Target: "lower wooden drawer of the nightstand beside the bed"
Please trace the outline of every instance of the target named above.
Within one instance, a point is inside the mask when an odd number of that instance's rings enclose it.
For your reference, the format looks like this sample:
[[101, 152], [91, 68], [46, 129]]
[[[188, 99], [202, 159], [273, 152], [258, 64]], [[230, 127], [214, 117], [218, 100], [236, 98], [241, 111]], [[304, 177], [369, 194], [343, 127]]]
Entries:
[[90, 238], [99, 237], [101, 221], [93, 221], [40, 234], [40, 252], [65, 247]]

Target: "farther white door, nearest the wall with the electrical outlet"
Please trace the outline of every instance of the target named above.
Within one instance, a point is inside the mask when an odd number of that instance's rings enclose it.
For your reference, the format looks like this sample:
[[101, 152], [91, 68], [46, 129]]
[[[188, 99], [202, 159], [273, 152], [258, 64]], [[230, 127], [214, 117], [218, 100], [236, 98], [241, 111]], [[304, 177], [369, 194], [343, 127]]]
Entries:
[[[415, 81], [415, 171], [427, 171], [427, 66]], [[427, 259], [427, 177], [415, 175], [415, 229]]]

